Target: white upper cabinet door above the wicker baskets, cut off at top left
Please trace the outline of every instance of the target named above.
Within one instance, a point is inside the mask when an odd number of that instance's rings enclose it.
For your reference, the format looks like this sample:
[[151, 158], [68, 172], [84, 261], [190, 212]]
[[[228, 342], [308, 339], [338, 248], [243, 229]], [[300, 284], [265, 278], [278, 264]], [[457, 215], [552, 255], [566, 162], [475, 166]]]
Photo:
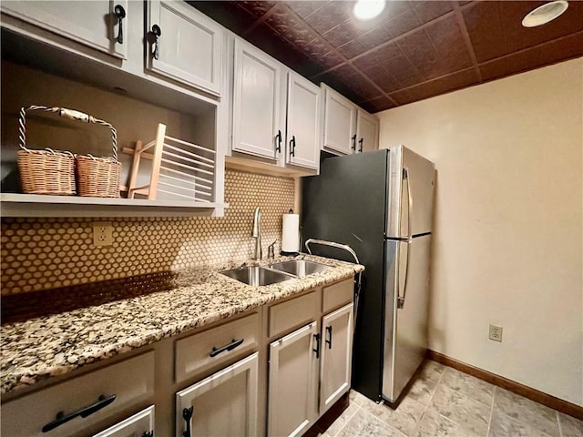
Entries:
[[[119, 16], [125, 15], [119, 41], [116, 7]], [[109, 55], [127, 57], [128, 0], [3, 1], [2, 12]]]

